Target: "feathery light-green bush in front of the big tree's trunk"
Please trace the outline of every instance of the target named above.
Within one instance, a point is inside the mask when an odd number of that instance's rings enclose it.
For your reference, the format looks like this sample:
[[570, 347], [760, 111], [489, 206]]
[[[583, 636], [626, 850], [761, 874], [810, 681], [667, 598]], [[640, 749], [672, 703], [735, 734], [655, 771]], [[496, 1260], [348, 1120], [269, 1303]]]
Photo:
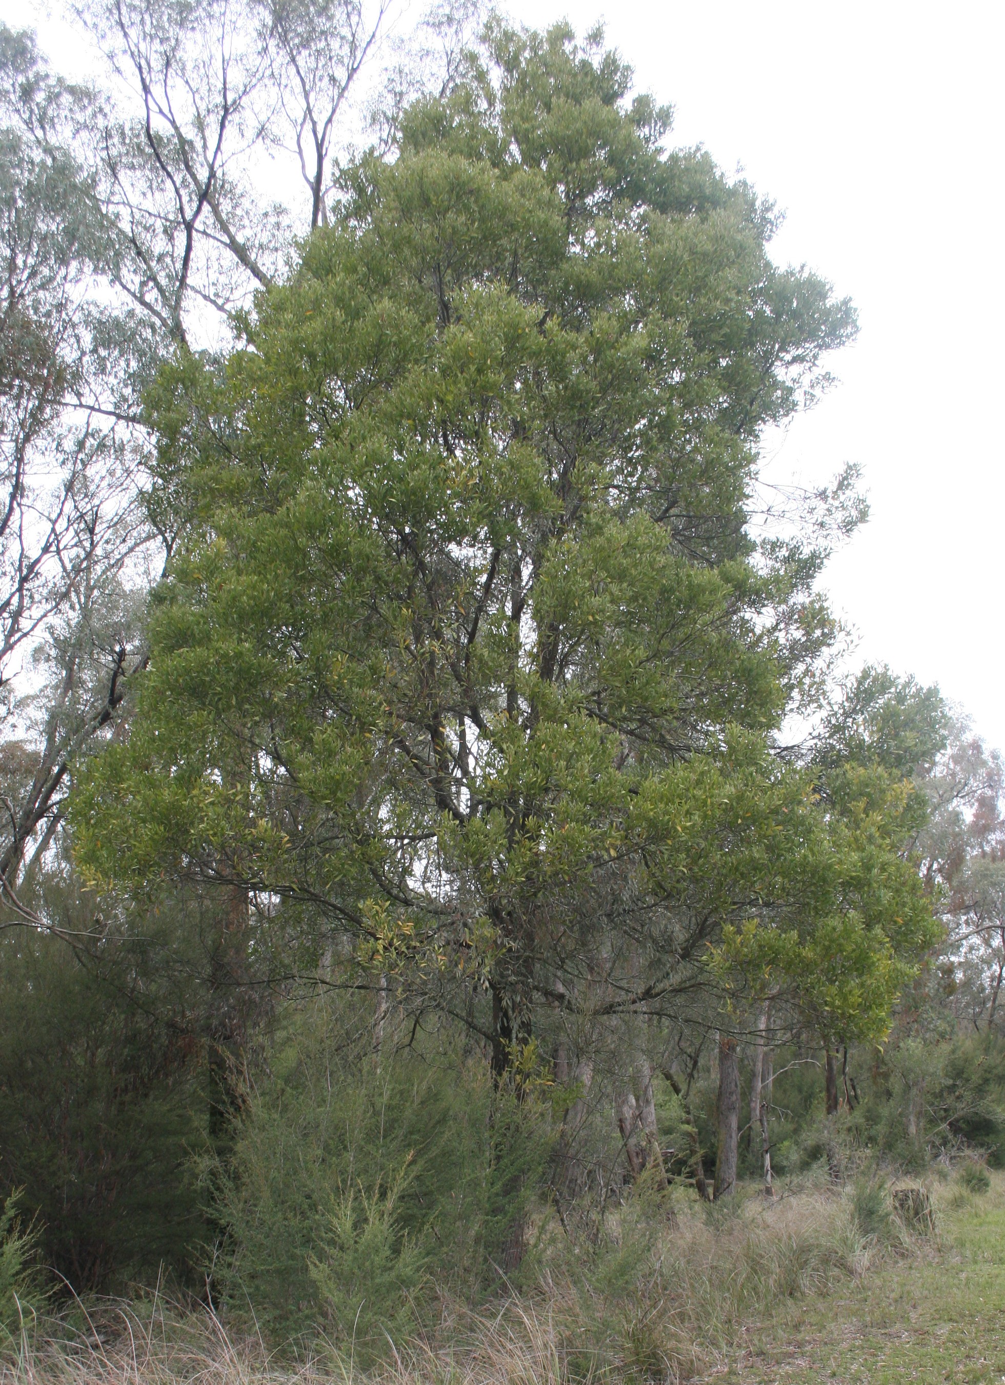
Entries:
[[357, 1355], [421, 1317], [433, 1291], [476, 1294], [526, 1227], [548, 1112], [493, 1089], [449, 1043], [372, 1051], [365, 1012], [298, 1010], [210, 1173], [216, 1291], [274, 1339], [318, 1327]]

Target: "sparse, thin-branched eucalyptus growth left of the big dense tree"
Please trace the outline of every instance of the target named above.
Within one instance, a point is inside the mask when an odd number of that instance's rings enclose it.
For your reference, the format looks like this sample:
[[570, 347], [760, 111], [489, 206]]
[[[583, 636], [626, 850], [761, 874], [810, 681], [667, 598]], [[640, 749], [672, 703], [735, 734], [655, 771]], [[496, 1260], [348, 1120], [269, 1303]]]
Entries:
[[[58, 830], [73, 759], [145, 659], [143, 594], [173, 535], [143, 391], [173, 346], [226, 342], [249, 285], [321, 219], [385, 6], [96, 0], [78, 17], [104, 60], [90, 84], [0, 28], [0, 680], [7, 735], [35, 758], [0, 785], [15, 910], [25, 852]], [[293, 144], [311, 132], [299, 217], [262, 193], [282, 120]]]

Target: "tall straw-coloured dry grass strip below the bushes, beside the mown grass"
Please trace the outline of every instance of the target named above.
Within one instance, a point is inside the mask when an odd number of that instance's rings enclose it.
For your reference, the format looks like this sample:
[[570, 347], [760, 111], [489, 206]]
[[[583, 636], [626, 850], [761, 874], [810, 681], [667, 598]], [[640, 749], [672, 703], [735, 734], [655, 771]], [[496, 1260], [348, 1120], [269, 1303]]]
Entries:
[[680, 1382], [713, 1370], [745, 1325], [864, 1273], [875, 1253], [850, 1195], [666, 1212], [626, 1208], [588, 1253], [545, 1237], [533, 1288], [479, 1312], [443, 1301], [439, 1325], [389, 1341], [378, 1367], [324, 1338], [310, 1356], [270, 1353], [205, 1307], [155, 1298], [25, 1331], [0, 1356], [0, 1385]]

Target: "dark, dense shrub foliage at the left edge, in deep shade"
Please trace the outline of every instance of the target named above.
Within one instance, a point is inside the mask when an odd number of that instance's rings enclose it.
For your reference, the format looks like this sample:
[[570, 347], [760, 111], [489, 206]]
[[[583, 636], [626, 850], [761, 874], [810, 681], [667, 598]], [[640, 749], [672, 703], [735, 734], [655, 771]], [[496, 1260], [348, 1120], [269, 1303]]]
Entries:
[[24, 929], [0, 942], [0, 1186], [79, 1291], [184, 1277], [205, 1234], [198, 1043], [150, 961], [143, 943], [89, 958]]

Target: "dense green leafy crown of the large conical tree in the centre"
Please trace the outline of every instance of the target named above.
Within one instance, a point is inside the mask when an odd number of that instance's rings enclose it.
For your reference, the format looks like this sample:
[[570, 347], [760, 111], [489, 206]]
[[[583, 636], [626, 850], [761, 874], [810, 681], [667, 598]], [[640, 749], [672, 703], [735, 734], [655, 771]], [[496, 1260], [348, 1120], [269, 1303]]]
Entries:
[[598, 36], [490, 28], [244, 348], [163, 373], [184, 537], [78, 798], [94, 878], [237, 882], [260, 953], [299, 906], [497, 1073], [536, 1017], [662, 1012], [725, 925], [839, 920], [865, 971], [921, 928], [768, 752], [832, 632], [821, 553], [752, 537], [757, 445], [853, 313], [667, 125]]

